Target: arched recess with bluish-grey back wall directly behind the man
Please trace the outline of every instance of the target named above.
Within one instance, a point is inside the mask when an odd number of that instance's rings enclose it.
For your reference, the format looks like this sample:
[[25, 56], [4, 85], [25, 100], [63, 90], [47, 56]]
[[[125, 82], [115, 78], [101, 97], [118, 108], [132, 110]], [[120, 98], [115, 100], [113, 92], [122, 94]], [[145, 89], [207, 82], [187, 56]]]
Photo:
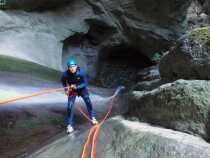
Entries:
[[75, 33], [63, 41], [62, 67], [66, 69], [69, 58], [74, 58], [88, 75], [88, 81], [94, 83], [96, 77], [97, 47], [92, 44], [89, 33]]

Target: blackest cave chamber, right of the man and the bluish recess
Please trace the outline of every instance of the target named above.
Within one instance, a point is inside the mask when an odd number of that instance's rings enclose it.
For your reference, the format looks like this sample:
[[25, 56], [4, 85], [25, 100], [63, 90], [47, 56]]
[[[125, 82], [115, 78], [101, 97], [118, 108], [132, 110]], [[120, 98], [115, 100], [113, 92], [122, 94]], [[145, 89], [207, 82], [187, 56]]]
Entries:
[[152, 65], [155, 63], [134, 47], [121, 44], [103, 48], [98, 57], [97, 81], [104, 87], [133, 85], [138, 81], [137, 73]]

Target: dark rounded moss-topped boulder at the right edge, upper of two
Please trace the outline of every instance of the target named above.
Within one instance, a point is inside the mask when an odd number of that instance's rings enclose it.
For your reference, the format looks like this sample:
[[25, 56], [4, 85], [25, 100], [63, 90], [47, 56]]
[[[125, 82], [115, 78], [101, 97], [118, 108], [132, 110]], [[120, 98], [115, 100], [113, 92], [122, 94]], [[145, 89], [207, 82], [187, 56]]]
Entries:
[[210, 79], [210, 27], [183, 36], [160, 62], [162, 78]]

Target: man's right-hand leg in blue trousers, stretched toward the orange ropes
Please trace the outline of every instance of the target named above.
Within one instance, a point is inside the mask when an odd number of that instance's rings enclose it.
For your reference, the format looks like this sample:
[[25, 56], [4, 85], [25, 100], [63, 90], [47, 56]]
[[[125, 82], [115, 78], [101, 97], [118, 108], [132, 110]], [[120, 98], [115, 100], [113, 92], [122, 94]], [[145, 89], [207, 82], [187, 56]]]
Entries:
[[83, 90], [81, 92], [80, 96], [82, 97], [82, 99], [84, 100], [84, 102], [86, 104], [87, 111], [88, 111], [90, 119], [91, 120], [95, 119], [95, 112], [93, 110], [93, 106], [92, 106], [92, 102], [91, 102], [90, 97], [89, 97], [88, 90], [86, 90], [86, 89]]

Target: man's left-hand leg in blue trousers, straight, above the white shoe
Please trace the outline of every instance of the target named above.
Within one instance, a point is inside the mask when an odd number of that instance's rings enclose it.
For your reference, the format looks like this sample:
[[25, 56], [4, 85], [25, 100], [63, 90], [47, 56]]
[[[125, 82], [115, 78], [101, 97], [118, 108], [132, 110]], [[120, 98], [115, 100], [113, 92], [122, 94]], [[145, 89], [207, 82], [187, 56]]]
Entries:
[[74, 103], [76, 96], [68, 97], [68, 107], [67, 107], [67, 125], [73, 125], [73, 115], [74, 115]]

